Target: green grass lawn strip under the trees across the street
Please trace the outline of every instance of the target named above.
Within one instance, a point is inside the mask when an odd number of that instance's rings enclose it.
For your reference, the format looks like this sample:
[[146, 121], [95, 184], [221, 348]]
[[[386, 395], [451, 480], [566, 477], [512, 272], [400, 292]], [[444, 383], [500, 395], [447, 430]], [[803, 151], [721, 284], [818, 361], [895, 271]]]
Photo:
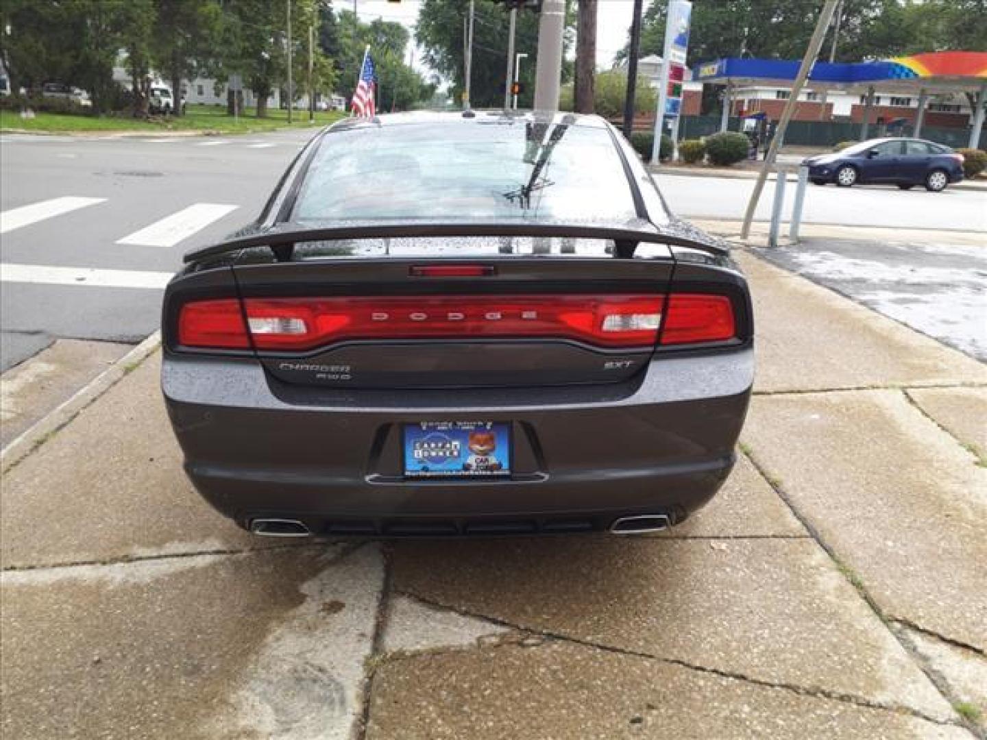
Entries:
[[[310, 125], [324, 126], [344, 117], [341, 111], [316, 111], [315, 123], [309, 123], [308, 111], [292, 111], [292, 128]], [[197, 131], [199, 133], [251, 133], [271, 131], [288, 126], [288, 111], [267, 109], [266, 118], [258, 118], [254, 109], [234, 118], [225, 108], [215, 106], [189, 106], [181, 117], [155, 116], [150, 120], [138, 120], [125, 116], [68, 115], [64, 113], [36, 113], [34, 118], [22, 118], [17, 111], [0, 111], [0, 130], [38, 131], [43, 133], [86, 133], [99, 131], [136, 131], [168, 133], [169, 131]]]

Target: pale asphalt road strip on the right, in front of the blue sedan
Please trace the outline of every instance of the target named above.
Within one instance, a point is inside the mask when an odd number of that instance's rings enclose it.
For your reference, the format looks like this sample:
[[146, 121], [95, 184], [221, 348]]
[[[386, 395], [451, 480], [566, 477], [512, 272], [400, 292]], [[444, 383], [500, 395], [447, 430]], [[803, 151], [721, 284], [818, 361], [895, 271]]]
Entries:
[[[658, 175], [658, 186], [669, 205], [686, 218], [743, 218], [753, 180]], [[792, 212], [795, 181], [786, 186], [783, 218]], [[775, 184], [768, 182], [755, 219], [771, 218]], [[987, 232], [987, 190], [955, 189], [929, 192], [924, 187], [899, 190], [893, 185], [808, 185], [803, 223], [881, 226], [901, 229], [942, 229]]]

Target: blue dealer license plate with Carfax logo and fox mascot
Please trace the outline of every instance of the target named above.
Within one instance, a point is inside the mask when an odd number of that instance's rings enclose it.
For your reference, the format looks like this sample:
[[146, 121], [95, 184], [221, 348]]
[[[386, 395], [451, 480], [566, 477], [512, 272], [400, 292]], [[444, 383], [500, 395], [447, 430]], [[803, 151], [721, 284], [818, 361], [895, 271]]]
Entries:
[[510, 475], [510, 423], [419, 421], [405, 424], [406, 478]]

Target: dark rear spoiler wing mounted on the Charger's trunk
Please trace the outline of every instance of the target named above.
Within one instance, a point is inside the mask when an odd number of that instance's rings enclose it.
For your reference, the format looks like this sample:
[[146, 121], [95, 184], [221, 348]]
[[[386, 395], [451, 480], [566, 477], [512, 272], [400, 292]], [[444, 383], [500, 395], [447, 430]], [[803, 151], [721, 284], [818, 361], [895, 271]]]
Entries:
[[555, 237], [572, 239], [605, 239], [617, 246], [615, 257], [630, 259], [638, 244], [665, 244], [689, 247], [717, 256], [729, 254], [729, 247], [692, 224], [673, 219], [656, 227], [643, 222], [641, 226], [588, 226], [585, 224], [529, 223], [375, 223], [310, 228], [283, 223], [270, 229], [240, 232], [218, 244], [192, 250], [186, 262], [224, 255], [252, 247], [269, 247], [278, 261], [291, 259], [298, 242], [330, 242], [345, 239], [409, 239], [431, 237]]

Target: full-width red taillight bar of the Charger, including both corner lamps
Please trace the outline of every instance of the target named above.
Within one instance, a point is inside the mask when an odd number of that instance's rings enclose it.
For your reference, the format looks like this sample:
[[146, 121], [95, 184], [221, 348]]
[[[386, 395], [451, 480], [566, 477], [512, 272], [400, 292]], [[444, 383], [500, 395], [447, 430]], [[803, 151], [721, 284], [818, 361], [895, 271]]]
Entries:
[[662, 323], [662, 344], [736, 333], [732, 304], [721, 295], [248, 298], [243, 310], [222, 298], [182, 307], [178, 343], [249, 349], [253, 339], [258, 349], [291, 351], [359, 339], [541, 337], [637, 348], [654, 346]]

